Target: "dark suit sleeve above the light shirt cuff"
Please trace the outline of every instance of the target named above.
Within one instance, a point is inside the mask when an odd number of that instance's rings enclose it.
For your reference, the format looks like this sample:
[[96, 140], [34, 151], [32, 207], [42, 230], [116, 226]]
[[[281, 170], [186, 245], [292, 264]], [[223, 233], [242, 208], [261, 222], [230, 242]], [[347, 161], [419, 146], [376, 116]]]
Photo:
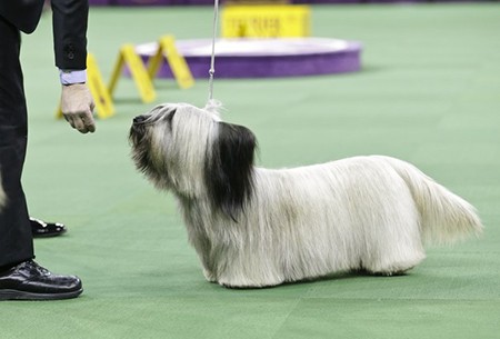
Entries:
[[56, 66], [68, 70], [86, 69], [88, 0], [51, 0], [51, 4]]

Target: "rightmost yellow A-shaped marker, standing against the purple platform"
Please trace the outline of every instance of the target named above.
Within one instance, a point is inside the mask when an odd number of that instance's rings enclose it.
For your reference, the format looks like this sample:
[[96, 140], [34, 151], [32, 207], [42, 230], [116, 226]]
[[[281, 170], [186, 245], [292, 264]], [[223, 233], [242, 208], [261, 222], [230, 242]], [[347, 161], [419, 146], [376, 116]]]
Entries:
[[160, 41], [158, 42], [158, 51], [149, 60], [148, 73], [151, 79], [157, 76], [163, 59], [167, 59], [173, 77], [180, 88], [187, 89], [194, 84], [191, 70], [189, 69], [186, 59], [179, 54], [172, 36], [164, 36], [160, 38]]

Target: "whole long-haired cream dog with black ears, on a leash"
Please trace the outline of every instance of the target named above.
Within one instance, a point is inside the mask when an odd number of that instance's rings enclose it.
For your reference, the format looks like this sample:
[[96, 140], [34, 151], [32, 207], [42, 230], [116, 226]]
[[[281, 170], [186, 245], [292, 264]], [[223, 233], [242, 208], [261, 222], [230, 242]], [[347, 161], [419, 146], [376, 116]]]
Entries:
[[226, 287], [399, 275], [422, 261], [424, 243], [482, 230], [471, 205], [394, 158], [254, 167], [256, 137], [221, 121], [214, 102], [160, 104], [133, 119], [129, 138], [137, 168], [179, 201], [204, 277]]

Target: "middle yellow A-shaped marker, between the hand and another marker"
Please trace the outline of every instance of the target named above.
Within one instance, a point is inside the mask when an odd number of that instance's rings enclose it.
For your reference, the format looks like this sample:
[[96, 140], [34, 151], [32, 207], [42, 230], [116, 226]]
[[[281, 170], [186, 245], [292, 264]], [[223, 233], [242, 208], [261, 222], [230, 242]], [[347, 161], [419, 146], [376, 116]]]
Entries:
[[133, 44], [123, 44], [120, 49], [114, 70], [109, 83], [109, 93], [112, 96], [117, 87], [118, 79], [121, 76], [123, 66], [127, 64], [130, 74], [136, 83], [142, 102], [151, 102], [157, 98], [157, 92], [151, 82], [151, 78], [142, 62], [141, 58], [136, 53]]

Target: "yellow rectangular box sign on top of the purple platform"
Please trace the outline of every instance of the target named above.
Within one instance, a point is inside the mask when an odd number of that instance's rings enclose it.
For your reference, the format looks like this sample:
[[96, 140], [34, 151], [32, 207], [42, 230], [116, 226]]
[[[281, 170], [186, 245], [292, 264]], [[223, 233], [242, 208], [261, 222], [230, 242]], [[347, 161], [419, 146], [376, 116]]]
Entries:
[[311, 11], [306, 4], [227, 6], [222, 11], [223, 38], [292, 38], [311, 34]]

